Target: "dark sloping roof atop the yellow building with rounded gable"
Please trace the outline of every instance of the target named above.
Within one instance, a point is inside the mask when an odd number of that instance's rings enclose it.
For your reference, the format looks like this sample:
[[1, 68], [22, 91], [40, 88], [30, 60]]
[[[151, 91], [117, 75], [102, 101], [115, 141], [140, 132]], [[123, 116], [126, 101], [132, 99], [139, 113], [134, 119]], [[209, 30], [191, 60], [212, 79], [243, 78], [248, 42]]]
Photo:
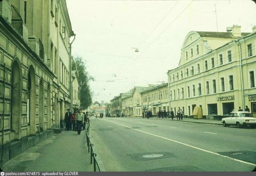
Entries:
[[[204, 31], [195, 31], [201, 37], [214, 37], [214, 38], [238, 38], [232, 35], [232, 32], [204, 32]], [[251, 33], [242, 32], [241, 37], [249, 35]]]

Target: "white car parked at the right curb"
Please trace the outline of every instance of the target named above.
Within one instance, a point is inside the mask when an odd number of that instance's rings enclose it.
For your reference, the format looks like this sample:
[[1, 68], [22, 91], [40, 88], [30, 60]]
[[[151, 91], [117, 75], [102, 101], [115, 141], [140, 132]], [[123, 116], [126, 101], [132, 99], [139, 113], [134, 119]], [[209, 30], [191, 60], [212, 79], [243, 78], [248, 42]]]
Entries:
[[236, 125], [238, 128], [242, 126], [256, 127], [256, 118], [248, 111], [232, 111], [226, 118], [221, 119], [224, 127]]

